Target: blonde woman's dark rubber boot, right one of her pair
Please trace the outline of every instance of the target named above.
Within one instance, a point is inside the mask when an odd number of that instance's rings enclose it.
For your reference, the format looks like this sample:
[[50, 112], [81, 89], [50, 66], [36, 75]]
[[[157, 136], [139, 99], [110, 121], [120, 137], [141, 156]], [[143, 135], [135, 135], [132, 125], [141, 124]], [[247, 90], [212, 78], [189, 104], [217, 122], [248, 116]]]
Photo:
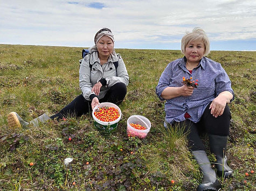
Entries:
[[210, 150], [216, 155], [216, 168], [219, 177], [232, 177], [233, 170], [227, 165], [227, 136], [209, 135]]

